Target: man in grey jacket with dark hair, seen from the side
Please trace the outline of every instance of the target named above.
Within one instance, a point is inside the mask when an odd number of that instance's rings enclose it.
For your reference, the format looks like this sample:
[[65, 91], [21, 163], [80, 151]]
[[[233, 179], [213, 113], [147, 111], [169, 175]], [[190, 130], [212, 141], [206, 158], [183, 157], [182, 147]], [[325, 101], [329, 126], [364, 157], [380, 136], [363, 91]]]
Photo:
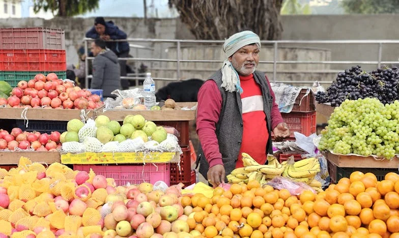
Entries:
[[111, 92], [121, 88], [121, 71], [118, 64], [118, 56], [106, 48], [102, 39], [92, 42], [93, 55], [93, 79], [91, 87], [103, 90], [104, 97], [115, 98]]

